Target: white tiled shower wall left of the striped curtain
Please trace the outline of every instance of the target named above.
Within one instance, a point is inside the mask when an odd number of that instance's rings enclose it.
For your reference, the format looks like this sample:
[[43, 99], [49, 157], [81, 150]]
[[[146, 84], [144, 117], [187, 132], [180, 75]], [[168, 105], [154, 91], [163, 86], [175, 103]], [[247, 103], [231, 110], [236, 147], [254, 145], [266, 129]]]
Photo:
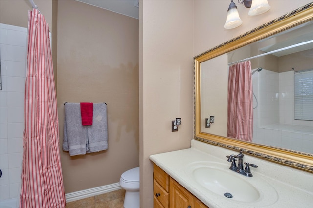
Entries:
[[0, 24], [0, 201], [20, 195], [27, 28]]

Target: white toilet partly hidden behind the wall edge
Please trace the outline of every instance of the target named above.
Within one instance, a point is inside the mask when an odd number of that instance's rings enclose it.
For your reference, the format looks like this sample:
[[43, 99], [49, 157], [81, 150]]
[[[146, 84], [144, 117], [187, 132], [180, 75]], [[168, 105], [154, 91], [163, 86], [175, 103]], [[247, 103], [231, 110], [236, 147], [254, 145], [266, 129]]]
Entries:
[[126, 190], [124, 208], [139, 208], [139, 167], [124, 172], [119, 185]]

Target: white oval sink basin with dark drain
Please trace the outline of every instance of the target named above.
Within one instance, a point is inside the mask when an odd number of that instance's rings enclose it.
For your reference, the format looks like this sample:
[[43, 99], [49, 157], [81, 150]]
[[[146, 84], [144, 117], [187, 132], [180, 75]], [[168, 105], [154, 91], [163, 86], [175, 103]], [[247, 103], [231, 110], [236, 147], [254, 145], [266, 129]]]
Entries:
[[230, 171], [200, 167], [193, 171], [193, 176], [202, 187], [227, 198], [242, 202], [253, 202], [260, 198], [260, 193], [254, 186]]

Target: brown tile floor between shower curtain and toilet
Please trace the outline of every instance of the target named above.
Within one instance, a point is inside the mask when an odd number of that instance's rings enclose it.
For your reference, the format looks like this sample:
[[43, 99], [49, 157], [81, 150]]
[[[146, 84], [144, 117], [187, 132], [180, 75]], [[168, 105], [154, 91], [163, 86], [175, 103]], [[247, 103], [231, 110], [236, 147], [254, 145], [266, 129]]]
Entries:
[[120, 189], [89, 198], [68, 202], [66, 208], [123, 208], [125, 190]]

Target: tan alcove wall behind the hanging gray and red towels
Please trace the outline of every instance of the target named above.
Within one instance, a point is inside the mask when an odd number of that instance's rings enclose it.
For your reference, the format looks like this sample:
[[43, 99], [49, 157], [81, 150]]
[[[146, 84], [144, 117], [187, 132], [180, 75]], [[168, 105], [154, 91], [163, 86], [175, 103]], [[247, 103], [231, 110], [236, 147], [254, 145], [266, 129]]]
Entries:
[[108, 150], [74, 157], [61, 151], [66, 193], [117, 183], [139, 166], [138, 44], [137, 19], [58, 2], [60, 141], [65, 102], [106, 102], [108, 109]]

